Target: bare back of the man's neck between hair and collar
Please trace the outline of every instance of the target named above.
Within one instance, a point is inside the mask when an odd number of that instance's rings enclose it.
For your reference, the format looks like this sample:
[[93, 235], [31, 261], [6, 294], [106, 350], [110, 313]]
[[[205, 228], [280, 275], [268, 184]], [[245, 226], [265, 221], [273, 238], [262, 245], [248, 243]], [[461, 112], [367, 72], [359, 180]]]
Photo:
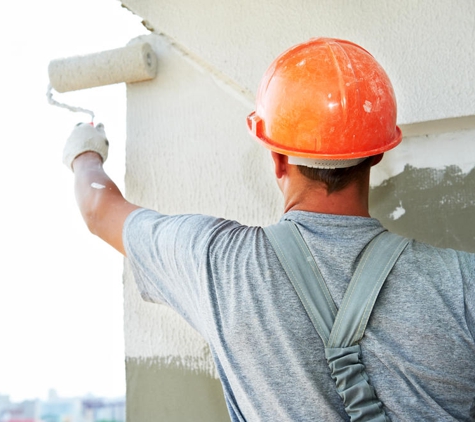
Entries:
[[322, 214], [370, 217], [369, 175], [367, 181], [355, 182], [346, 188], [328, 193], [325, 186], [306, 178], [292, 178], [283, 186], [285, 212], [309, 211]]

